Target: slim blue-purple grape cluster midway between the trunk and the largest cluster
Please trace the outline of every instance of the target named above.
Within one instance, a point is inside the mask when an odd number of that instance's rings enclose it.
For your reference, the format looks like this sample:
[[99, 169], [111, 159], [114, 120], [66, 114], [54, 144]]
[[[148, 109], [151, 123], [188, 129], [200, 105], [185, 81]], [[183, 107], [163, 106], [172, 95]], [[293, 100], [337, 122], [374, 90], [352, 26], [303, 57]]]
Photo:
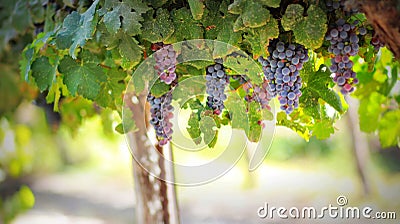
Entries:
[[222, 63], [215, 62], [214, 65], [206, 68], [207, 106], [217, 115], [221, 114], [225, 108], [226, 95], [224, 91], [228, 84], [229, 77], [226, 75]]

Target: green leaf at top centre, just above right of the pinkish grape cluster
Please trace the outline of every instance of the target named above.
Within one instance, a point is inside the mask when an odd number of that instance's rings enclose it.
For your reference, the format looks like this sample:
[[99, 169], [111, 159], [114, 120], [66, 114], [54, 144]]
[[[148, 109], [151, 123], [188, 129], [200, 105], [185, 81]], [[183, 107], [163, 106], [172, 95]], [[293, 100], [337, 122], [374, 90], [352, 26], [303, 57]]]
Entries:
[[173, 10], [172, 19], [175, 31], [165, 42], [174, 43], [183, 40], [203, 38], [203, 29], [199, 23], [193, 19], [188, 9], [181, 8]]

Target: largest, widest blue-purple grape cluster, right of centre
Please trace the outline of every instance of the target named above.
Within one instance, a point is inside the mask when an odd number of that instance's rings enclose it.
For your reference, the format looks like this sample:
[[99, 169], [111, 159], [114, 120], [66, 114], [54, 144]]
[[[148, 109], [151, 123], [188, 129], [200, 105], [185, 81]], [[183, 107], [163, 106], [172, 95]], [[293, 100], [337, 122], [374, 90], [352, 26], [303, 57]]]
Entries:
[[271, 98], [278, 96], [280, 109], [287, 114], [299, 106], [301, 96], [300, 70], [308, 61], [308, 51], [300, 44], [289, 44], [275, 39], [268, 46], [270, 56], [260, 57], [263, 72], [268, 80]]

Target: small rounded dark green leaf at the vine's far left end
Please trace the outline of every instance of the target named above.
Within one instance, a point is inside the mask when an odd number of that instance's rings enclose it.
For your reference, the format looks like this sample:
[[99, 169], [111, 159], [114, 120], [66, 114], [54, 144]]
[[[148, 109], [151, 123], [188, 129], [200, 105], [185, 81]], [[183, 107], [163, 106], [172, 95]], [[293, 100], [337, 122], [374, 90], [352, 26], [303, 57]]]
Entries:
[[49, 62], [49, 58], [42, 56], [32, 63], [32, 76], [35, 78], [39, 90], [43, 92], [48, 89], [56, 77], [56, 66]]

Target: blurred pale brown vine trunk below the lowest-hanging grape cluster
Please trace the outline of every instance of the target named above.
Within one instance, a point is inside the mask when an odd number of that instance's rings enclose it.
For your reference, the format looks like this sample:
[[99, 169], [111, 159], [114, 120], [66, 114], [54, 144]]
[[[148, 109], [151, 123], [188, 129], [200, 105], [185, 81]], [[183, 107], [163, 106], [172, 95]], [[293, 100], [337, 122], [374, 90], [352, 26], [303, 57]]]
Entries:
[[[179, 210], [173, 182], [174, 169], [171, 145], [153, 146], [147, 135], [148, 107], [146, 95], [137, 100], [125, 97], [125, 105], [133, 112], [137, 131], [127, 133], [127, 141], [133, 153], [132, 168], [136, 195], [137, 223], [180, 223]], [[150, 136], [150, 135], [149, 135]], [[155, 139], [153, 139], [155, 140]]]

